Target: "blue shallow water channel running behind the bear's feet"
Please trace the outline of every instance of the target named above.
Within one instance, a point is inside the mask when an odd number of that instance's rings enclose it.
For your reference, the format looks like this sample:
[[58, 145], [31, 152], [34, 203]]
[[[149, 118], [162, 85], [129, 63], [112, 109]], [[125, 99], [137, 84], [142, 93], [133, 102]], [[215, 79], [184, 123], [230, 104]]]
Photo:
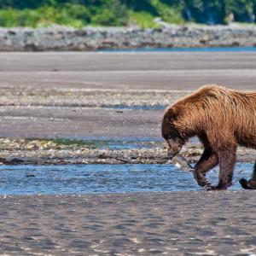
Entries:
[[[234, 184], [253, 164], [237, 163]], [[217, 183], [218, 169], [208, 173]], [[200, 191], [191, 172], [172, 165], [0, 166], [0, 195], [58, 195], [138, 191]]]

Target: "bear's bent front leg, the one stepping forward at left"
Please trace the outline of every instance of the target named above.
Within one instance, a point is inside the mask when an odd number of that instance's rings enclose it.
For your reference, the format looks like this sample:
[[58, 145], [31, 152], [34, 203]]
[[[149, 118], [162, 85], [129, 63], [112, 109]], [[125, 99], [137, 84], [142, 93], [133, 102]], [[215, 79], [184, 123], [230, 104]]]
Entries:
[[206, 148], [193, 171], [195, 180], [201, 187], [210, 186], [210, 182], [206, 178], [206, 173], [217, 165], [218, 159], [216, 154], [213, 154], [210, 148]]

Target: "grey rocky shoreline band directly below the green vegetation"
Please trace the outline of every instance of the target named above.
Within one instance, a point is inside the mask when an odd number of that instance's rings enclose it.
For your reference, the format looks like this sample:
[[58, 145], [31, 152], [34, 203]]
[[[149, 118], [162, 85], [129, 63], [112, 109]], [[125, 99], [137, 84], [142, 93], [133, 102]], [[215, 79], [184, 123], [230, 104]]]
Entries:
[[256, 26], [0, 28], [0, 51], [254, 47]]

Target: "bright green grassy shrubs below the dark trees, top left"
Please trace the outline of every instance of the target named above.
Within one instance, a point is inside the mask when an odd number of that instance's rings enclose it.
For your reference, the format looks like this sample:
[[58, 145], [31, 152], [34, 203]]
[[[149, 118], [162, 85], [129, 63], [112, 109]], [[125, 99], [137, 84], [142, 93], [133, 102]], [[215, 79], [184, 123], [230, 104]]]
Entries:
[[[118, 2], [116, 2], [118, 3]], [[146, 11], [125, 9], [124, 6], [109, 5], [106, 8], [87, 9], [82, 4], [65, 3], [57, 6], [44, 5], [38, 9], [0, 9], [0, 26], [3, 27], [40, 27], [40, 26], [131, 26], [142, 28], [158, 27], [154, 22], [161, 17], [169, 23], [181, 24], [180, 10], [172, 9], [157, 0], [153, 1], [158, 14]]]

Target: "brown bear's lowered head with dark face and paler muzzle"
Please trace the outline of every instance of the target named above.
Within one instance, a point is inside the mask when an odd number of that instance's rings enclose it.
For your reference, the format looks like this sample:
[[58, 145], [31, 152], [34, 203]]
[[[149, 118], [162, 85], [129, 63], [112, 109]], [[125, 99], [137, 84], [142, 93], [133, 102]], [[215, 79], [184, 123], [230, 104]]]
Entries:
[[180, 114], [177, 108], [167, 108], [162, 119], [161, 132], [166, 140], [166, 151], [170, 159], [178, 154], [183, 144], [186, 143], [177, 125]]

